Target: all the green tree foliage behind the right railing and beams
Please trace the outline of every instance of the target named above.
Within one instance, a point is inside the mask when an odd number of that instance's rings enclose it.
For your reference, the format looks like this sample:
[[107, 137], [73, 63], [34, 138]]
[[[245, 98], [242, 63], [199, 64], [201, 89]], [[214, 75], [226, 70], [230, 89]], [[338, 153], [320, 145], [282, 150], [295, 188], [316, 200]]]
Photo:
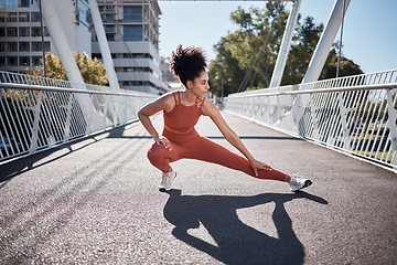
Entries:
[[[285, 3], [268, 2], [265, 8], [238, 8], [230, 19], [239, 29], [223, 36], [214, 46], [216, 59], [210, 65], [212, 91], [221, 95], [224, 81], [225, 96], [245, 89], [268, 87], [281, 45], [289, 12]], [[313, 18], [301, 22], [299, 15], [292, 38], [281, 85], [299, 84], [308, 68], [323, 24], [316, 25]], [[335, 77], [337, 65], [337, 44], [333, 45], [320, 80]], [[340, 76], [363, 73], [353, 61], [341, 56]]]

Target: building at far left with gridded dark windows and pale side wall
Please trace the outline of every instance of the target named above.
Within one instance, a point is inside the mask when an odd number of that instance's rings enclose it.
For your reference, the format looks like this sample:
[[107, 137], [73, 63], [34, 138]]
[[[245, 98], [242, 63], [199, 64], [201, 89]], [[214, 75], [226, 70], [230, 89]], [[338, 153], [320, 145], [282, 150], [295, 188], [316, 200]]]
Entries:
[[[52, 0], [72, 51], [90, 54], [90, 19], [84, 0]], [[53, 41], [43, 26], [35, 0], [0, 1], [0, 70], [25, 73], [40, 65], [44, 53], [57, 56]]]

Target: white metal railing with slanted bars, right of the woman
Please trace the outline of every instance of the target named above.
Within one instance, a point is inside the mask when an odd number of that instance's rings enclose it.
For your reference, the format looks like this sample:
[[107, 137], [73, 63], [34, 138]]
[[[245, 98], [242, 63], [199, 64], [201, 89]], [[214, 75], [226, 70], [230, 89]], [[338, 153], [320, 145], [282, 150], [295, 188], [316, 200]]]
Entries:
[[397, 170], [397, 70], [232, 94], [225, 109]]

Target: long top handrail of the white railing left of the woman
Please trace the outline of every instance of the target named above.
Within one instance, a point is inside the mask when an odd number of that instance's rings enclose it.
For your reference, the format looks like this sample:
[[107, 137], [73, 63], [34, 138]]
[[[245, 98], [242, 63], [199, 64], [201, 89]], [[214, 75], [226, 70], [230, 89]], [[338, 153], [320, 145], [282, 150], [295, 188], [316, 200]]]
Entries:
[[158, 96], [154, 94], [146, 93], [120, 93], [120, 92], [101, 92], [101, 91], [86, 91], [86, 89], [76, 89], [76, 88], [64, 88], [55, 86], [39, 86], [39, 85], [25, 85], [25, 84], [14, 84], [14, 83], [0, 83], [2, 88], [11, 89], [28, 89], [28, 91], [46, 91], [46, 92], [67, 92], [67, 93], [79, 93], [79, 94], [100, 94], [100, 95], [114, 95], [114, 96], [133, 96], [133, 97], [148, 97], [148, 96]]

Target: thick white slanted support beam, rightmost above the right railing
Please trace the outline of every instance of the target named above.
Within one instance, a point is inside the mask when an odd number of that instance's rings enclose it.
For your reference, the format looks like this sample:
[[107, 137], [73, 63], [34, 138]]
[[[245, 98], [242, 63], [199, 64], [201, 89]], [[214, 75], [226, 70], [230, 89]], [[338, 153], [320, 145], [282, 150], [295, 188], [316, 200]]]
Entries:
[[332, 47], [332, 43], [334, 42], [337, 31], [342, 24], [343, 14], [346, 13], [350, 2], [351, 0], [335, 0], [324, 31], [309, 63], [308, 71], [302, 80], [302, 84], [315, 82], [319, 80], [321, 71]]

